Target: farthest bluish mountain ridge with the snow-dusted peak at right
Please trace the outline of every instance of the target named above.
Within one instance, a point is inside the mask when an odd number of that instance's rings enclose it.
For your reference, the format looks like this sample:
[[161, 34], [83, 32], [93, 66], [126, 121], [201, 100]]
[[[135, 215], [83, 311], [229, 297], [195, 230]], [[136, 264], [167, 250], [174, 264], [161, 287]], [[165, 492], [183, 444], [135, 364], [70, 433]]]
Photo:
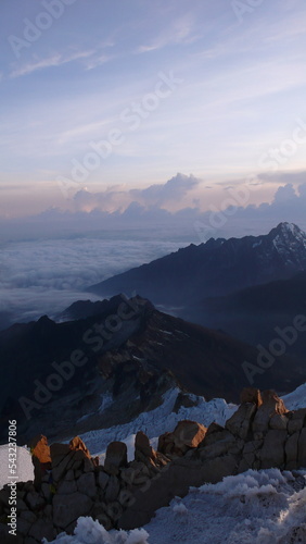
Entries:
[[136, 292], [153, 304], [184, 306], [199, 298], [289, 279], [304, 270], [306, 234], [297, 225], [280, 223], [267, 235], [191, 244], [88, 290], [103, 297]]

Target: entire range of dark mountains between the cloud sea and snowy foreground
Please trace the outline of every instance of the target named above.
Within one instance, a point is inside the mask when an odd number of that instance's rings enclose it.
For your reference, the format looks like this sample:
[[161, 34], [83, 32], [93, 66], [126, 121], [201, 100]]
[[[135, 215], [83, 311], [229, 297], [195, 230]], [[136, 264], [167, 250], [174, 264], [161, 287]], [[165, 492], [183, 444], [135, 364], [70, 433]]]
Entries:
[[[115, 296], [0, 332], [1, 421], [18, 419], [21, 440], [123, 424], [174, 387], [182, 399], [238, 401], [252, 384], [245, 362], [258, 370], [260, 350], [304, 313], [306, 235], [281, 223], [268, 235], [211, 239], [91, 289]], [[117, 294], [129, 290], [142, 296]], [[160, 311], [170, 306], [176, 316]], [[304, 336], [256, 372], [256, 387], [284, 394], [305, 382]]]

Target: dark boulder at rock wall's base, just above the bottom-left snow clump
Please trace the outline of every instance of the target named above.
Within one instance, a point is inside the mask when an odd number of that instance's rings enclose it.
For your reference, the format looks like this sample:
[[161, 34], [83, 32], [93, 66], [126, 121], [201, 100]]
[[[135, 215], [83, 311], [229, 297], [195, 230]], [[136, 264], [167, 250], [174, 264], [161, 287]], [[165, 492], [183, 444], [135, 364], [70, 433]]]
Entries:
[[80, 516], [89, 516], [92, 500], [82, 493], [59, 495], [53, 497], [53, 523], [56, 528], [66, 530]]

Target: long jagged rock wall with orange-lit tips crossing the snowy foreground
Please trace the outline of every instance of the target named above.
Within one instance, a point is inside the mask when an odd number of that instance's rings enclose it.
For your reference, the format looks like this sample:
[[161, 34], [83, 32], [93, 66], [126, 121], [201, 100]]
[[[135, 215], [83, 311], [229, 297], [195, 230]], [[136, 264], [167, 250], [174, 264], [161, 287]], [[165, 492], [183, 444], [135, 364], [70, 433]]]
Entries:
[[[289, 411], [273, 392], [242, 394], [242, 404], [222, 428], [181, 421], [160, 437], [158, 450], [139, 432], [135, 459], [122, 442], [109, 445], [104, 467], [79, 437], [48, 446], [44, 436], [31, 444], [35, 481], [16, 483], [16, 544], [53, 540], [72, 533], [78, 517], [92, 516], [107, 530], [146, 523], [176, 495], [205, 482], [250, 468], [306, 467], [306, 408]], [[0, 541], [8, 536], [10, 490], [0, 491]]]

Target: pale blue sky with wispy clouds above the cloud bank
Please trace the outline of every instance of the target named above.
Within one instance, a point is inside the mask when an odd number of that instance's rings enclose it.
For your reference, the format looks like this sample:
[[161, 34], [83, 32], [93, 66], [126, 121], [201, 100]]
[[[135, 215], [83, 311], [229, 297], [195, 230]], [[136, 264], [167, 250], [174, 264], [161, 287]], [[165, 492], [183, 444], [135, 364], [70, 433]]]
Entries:
[[306, 170], [305, 23], [304, 0], [2, 0], [0, 217], [85, 186], [114, 211], [177, 172], [199, 180], [184, 206], [266, 172], [252, 201], [271, 201]]

